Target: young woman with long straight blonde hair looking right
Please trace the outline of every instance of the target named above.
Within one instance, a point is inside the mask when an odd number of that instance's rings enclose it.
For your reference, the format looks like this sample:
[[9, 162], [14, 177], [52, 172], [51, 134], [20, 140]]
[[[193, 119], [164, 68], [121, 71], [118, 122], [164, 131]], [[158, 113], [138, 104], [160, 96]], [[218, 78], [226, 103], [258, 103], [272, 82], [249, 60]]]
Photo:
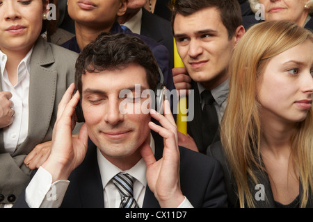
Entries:
[[230, 62], [221, 142], [230, 207], [313, 207], [313, 34], [291, 22], [252, 26]]

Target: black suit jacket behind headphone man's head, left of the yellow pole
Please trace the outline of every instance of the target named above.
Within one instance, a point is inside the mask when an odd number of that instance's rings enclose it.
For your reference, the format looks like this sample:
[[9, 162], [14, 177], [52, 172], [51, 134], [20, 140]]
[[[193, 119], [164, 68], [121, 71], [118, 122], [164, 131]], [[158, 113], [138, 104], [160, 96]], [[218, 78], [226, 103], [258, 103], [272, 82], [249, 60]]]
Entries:
[[170, 53], [170, 67], [174, 67], [174, 38], [170, 22], [143, 8], [141, 17], [141, 35], [150, 37], [159, 44], [163, 44]]

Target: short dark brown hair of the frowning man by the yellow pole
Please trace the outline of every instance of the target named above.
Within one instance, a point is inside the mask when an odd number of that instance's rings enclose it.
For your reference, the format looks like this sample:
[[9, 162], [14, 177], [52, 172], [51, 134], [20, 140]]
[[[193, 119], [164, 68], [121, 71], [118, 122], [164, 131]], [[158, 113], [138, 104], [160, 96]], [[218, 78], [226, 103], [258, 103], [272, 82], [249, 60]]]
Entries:
[[188, 16], [204, 8], [217, 8], [220, 18], [231, 38], [236, 28], [242, 24], [241, 8], [238, 0], [172, 0], [172, 31], [177, 14]]

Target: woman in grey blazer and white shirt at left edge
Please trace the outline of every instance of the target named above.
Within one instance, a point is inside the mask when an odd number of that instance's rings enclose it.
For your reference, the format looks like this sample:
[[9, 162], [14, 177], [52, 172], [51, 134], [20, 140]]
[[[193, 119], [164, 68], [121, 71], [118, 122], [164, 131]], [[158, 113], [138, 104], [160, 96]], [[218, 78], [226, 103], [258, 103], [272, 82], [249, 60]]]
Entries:
[[0, 207], [28, 185], [24, 158], [51, 140], [58, 103], [74, 82], [77, 53], [40, 37], [47, 3], [0, 3]]

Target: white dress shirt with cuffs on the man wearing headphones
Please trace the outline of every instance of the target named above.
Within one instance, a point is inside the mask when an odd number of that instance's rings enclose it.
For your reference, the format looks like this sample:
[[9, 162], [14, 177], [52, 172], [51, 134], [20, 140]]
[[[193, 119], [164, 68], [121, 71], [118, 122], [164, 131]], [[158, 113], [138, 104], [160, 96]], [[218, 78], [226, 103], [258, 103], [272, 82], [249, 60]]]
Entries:
[[[150, 135], [150, 147], [154, 153], [154, 139]], [[129, 173], [134, 177], [134, 198], [139, 207], [143, 207], [145, 198], [145, 189], [147, 187], [145, 161], [141, 158], [134, 167], [127, 171], [122, 171], [114, 164], [106, 160], [97, 148], [97, 162], [102, 179], [104, 189], [104, 207], [118, 208], [120, 206], [120, 193], [112, 182], [112, 178], [120, 173]], [[40, 167], [35, 173], [35, 176], [26, 187], [25, 200], [31, 208], [56, 208], [60, 207], [65, 196], [66, 189], [70, 184], [68, 180], [58, 180], [51, 184], [51, 174], [44, 168]], [[185, 197], [184, 201], [179, 205], [179, 208], [193, 207]]]

